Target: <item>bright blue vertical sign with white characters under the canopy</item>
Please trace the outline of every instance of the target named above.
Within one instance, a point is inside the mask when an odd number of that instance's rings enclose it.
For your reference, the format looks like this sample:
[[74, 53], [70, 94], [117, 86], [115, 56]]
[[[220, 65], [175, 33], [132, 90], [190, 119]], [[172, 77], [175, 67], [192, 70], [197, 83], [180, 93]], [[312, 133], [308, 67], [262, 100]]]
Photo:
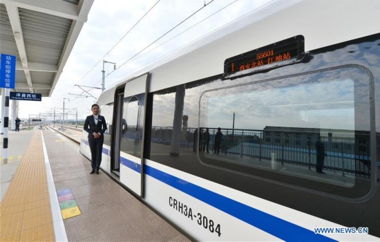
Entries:
[[16, 57], [15, 55], [1, 54], [0, 87], [15, 89]]

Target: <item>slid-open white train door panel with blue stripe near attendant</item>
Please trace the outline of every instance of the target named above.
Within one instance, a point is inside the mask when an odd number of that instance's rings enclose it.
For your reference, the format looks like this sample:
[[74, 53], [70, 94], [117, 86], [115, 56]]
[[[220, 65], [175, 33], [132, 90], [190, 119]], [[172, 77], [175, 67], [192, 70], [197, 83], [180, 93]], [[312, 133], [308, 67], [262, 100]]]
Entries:
[[124, 87], [122, 136], [120, 139], [120, 182], [142, 196], [144, 176], [144, 124], [148, 73]]

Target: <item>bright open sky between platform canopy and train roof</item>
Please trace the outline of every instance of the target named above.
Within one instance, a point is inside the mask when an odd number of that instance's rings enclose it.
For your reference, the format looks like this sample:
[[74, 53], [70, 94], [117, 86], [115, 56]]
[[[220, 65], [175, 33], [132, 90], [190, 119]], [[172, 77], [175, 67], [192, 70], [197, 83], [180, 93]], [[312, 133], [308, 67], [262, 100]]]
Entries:
[[115, 71], [113, 64], [104, 65], [107, 89], [127, 80], [139, 68], [271, 1], [96, 0], [53, 95], [42, 97], [41, 102], [20, 101], [18, 116], [41, 114], [53, 120], [55, 112], [59, 119], [65, 102], [69, 120], [75, 120], [76, 113], [78, 120], [84, 119], [101, 93], [103, 60], [116, 64]]

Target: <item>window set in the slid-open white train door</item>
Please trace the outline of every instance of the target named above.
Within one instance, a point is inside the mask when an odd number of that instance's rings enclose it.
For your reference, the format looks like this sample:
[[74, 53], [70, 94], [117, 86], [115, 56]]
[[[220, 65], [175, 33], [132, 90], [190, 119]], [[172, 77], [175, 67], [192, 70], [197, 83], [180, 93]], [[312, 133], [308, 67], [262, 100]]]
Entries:
[[140, 113], [137, 97], [125, 97], [120, 149], [132, 156], [140, 156], [141, 153], [142, 128], [139, 123]]

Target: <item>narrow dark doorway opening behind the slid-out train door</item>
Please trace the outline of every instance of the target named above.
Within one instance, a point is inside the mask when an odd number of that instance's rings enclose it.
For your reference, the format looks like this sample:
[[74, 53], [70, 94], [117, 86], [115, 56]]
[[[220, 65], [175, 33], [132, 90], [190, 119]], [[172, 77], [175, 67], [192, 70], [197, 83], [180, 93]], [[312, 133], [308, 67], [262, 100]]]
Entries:
[[124, 88], [117, 89], [115, 93], [115, 106], [113, 118], [113, 144], [111, 144], [111, 173], [120, 177], [120, 139], [122, 136], [122, 111], [123, 111]]

